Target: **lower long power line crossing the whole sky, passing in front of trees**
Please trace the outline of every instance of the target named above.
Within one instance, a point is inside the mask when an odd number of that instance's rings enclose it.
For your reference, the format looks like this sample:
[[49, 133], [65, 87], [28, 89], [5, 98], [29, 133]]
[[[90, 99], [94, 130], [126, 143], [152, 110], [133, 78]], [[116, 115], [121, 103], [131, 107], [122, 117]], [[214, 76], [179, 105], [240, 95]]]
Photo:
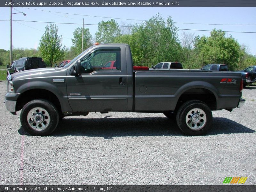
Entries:
[[[81, 23], [64, 23], [64, 22], [50, 22], [50, 21], [27, 21], [27, 20], [13, 20], [13, 21], [83, 25], [83, 24], [81, 24]], [[84, 25], [95, 25], [95, 26], [98, 26], [99, 24], [84, 24]], [[118, 27], [134, 27], [134, 28], [136, 28], [137, 26], [122, 26], [122, 25], [118, 25]], [[143, 28], [145, 28], [145, 27], [143, 27]], [[150, 27], [150, 28], [154, 28], [154, 27]], [[161, 28], [157, 28], [157, 29], [161, 29]], [[163, 28], [162, 28], [162, 29], [163, 29]], [[203, 29], [180, 29], [180, 28], [171, 28], [171, 29], [189, 30], [189, 31], [212, 31], [212, 30], [203, 30]], [[223, 31], [223, 32], [228, 32], [228, 33], [256, 33], [256, 32], [246, 32], [246, 31]]]

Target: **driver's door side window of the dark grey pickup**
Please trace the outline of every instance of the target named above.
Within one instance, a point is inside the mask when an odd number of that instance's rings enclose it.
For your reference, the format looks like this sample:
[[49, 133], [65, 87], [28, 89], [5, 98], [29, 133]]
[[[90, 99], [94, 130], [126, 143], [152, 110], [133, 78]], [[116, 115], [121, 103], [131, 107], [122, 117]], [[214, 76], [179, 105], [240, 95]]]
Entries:
[[120, 70], [120, 49], [102, 49], [92, 52], [81, 60], [81, 65], [83, 68], [82, 73], [92, 73], [100, 70]]

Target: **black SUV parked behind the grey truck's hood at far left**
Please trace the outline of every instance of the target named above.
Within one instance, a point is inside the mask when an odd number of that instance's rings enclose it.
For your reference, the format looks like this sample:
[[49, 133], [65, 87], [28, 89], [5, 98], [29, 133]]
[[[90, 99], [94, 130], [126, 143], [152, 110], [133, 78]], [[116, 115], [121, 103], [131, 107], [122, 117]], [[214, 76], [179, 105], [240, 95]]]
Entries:
[[8, 68], [7, 73], [12, 74], [28, 69], [45, 68], [46, 65], [41, 57], [22, 57], [13, 61], [11, 66], [7, 65], [6, 67]]

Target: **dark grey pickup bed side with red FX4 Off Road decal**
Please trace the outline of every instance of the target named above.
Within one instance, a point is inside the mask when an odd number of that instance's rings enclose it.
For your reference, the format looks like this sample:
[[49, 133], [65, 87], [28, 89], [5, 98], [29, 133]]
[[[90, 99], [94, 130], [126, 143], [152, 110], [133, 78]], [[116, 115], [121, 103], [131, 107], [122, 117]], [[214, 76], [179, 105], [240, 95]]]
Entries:
[[[223, 78], [225, 76], [227, 78]], [[135, 111], [175, 110], [181, 98], [199, 94], [206, 97], [207, 102], [215, 101], [216, 106], [213, 105], [212, 110], [220, 110], [236, 108], [241, 98], [241, 74], [237, 73], [143, 70], [135, 71], [134, 77]]]

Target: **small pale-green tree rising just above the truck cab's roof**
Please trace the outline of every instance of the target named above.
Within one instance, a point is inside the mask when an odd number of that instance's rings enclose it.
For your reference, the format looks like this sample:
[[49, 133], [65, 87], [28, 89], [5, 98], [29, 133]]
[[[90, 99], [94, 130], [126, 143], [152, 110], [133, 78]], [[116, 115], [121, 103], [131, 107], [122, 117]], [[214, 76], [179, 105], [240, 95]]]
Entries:
[[121, 30], [118, 27], [117, 22], [114, 19], [108, 21], [101, 21], [98, 24], [98, 31], [95, 33], [96, 42], [113, 43], [115, 37], [121, 35]]

